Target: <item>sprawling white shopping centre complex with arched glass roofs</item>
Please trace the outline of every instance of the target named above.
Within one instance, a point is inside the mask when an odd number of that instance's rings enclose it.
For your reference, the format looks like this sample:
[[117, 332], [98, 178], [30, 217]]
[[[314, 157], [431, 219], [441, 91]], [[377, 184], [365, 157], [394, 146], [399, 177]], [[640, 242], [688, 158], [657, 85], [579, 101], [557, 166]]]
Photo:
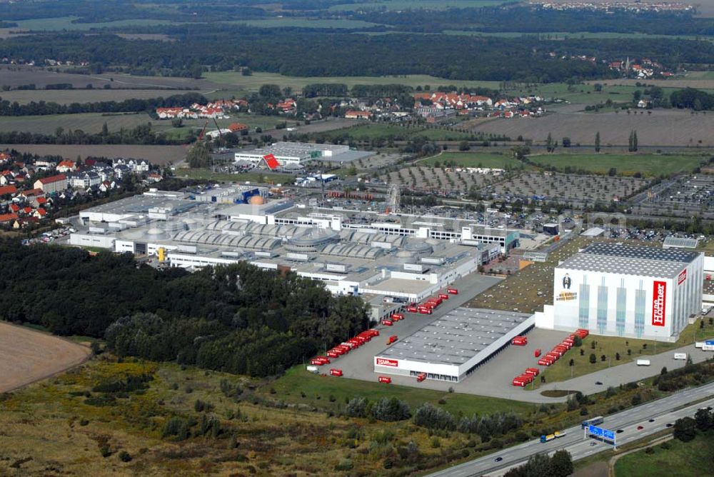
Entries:
[[518, 243], [518, 231], [508, 229], [306, 209], [267, 196], [268, 189], [255, 186], [152, 190], [81, 211], [71, 219], [70, 243], [156, 256], [164, 266], [183, 268], [248, 261], [323, 281], [336, 294], [408, 301], [422, 300]]

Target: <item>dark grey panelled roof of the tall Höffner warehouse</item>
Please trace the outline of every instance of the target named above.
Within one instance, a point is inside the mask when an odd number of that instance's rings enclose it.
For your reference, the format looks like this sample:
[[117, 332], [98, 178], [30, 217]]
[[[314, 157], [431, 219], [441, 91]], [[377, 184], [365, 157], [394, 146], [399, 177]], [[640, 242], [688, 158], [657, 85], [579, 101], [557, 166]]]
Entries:
[[557, 268], [672, 278], [699, 255], [683, 250], [592, 243]]

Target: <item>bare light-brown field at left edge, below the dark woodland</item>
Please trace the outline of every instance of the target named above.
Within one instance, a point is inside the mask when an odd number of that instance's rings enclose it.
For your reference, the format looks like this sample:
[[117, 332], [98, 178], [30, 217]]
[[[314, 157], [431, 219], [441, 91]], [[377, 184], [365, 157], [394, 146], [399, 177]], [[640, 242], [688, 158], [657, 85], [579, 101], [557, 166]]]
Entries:
[[76, 366], [89, 348], [0, 321], [0, 393]]

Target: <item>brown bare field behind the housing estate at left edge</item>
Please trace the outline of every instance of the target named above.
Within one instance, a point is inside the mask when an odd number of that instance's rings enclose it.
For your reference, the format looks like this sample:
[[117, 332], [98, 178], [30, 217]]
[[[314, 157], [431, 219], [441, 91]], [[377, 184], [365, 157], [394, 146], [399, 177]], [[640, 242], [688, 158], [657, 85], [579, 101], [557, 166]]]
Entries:
[[177, 164], [186, 157], [183, 146], [143, 146], [131, 144], [0, 144], [0, 150], [16, 149], [30, 154], [52, 155], [59, 154], [67, 159], [76, 159], [77, 156], [86, 158], [95, 157], [124, 157], [133, 159], [146, 159], [151, 164]]

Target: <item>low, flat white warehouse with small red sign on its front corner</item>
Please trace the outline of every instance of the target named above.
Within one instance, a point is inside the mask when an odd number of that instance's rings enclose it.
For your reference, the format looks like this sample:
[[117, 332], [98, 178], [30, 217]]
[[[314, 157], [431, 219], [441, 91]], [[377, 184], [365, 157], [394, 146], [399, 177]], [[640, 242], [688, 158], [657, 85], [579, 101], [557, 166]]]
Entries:
[[456, 308], [374, 357], [376, 373], [462, 381], [533, 328], [531, 314], [481, 308]]

